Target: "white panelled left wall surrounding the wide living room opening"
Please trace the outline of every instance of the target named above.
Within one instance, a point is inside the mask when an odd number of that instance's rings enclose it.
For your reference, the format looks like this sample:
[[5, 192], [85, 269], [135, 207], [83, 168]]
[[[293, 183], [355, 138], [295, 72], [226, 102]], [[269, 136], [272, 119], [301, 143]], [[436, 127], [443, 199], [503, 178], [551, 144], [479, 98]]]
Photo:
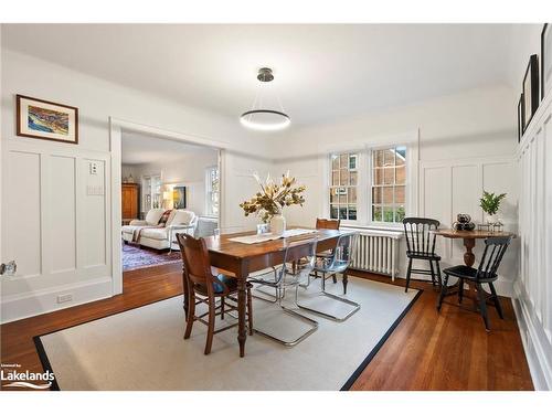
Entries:
[[[2, 321], [113, 295], [112, 252], [118, 246], [104, 234], [110, 232], [110, 187], [120, 178], [116, 180], [109, 168], [109, 117], [216, 141], [230, 168], [222, 170], [223, 180], [234, 189], [223, 194], [223, 226], [247, 224], [240, 215], [242, 191], [235, 189], [246, 189], [248, 180], [235, 166], [252, 157], [255, 168], [267, 170], [270, 161], [263, 159], [262, 140], [235, 119], [6, 49], [1, 60], [1, 255], [19, 264], [15, 277], [0, 282]], [[15, 136], [15, 94], [78, 107], [78, 146]], [[93, 160], [104, 167], [95, 177], [88, 173]], [[62, 180], [63, 185], [56, 187]], [[103, 195], [87, 195], [88, 184], [103, 185]], [[57, 304], [62, 294], [72, 294], [73, 300]]]

